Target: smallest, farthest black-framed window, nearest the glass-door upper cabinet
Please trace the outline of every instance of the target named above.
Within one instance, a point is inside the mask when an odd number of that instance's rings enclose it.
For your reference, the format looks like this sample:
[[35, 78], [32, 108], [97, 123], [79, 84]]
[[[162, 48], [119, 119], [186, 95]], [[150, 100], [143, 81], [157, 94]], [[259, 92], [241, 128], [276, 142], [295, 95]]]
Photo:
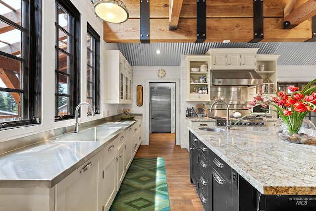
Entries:
[[100, 114], [100, 36], [90, 24], [87, 29], [87, 102]]

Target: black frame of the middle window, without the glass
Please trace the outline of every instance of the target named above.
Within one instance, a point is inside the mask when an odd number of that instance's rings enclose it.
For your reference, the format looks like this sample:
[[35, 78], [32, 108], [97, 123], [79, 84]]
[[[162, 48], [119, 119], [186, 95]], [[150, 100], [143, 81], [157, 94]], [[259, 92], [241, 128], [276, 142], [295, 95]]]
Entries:
[[[58, 7], [59, 5], [72, 17], [72, 33], [73, 33], [73, 42], [69, 43], [68, 46], [71, 46], [72, 48], [72, 57], [71, 57], [71, 63], [72, 70], [71, 70], [71, 79], [70, 83], [72, 83], [72, 87], [70, 87], [70, 99], [68, 105], [68, 112], [71, 112], [70, 114], [66, 115], [59, 115], [58, 114], [58, 97], [59, 96], [66, 96], [65, 94], [58, 93], [58, 85], [59, 85], [59, 79], [58, 74], [59, 72], [59, 64], [58, 64], [58, 53], [59, 53], [59, 46], [58, 46], [58, 30], [59, 28], [59, 22], [58, 22]], [[81, 48], [81, 21], [80, 21], [81, 14], [77, 10], [77, 8], [69, 1], [69, 0], [55, 0], [55, 121], [60, 121], [63, 119], [71, 119], [75, 118], [75, 109], [76, 106], [80, 103], [80, 76], [81, 76], [81, 69], [80, 69], [80, 48]], [[68, 66], [67, 66], [68, 67]]]

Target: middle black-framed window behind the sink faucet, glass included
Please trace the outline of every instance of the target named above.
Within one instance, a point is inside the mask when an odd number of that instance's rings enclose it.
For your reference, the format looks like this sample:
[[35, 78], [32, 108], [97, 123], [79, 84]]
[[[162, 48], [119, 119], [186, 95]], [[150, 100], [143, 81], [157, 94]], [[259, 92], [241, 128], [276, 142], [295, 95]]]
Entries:
[[55, 120], [73, 118], [80, 102], [80, 13], [69, 0], [55, 5]]

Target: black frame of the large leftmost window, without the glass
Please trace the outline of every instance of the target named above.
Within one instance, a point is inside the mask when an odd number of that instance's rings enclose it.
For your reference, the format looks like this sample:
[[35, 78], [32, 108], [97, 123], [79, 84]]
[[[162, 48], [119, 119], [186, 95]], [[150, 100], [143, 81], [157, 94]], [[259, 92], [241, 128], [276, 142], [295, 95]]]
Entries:
[[[0, 55], [21, 62], [23, 66], [23, 87], [20, 89], [2, 88], [0, 92], [21, 93], [21, 120], [5, 122], [0, 130], [25, 127], [41, 123], [41, 55], [42, 55], [42, 1], [21, 0], [21, 26], [0, 15], [0, 20], [23, 32], [21, 38], [21, 57], [3, 51]], [[23, 26], [22, 26], [23, 25]], [[23, 111], [22, 111], [23, 110]], [[3, 124], [3, 123], [2, 123]]]

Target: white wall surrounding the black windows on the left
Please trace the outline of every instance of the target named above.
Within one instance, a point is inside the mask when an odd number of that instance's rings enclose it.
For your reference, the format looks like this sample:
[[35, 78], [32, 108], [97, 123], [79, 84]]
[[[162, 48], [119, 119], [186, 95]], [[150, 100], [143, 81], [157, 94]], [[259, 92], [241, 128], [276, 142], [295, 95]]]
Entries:
[[[105, 49], [113, 50], [117, 49], [116, 44], [107, 44], [103, 41], [103, 22], [96, 17], [93, 11], [93, 4], [91, 0], [71, 0], [72, 3], [81, 13], [81, 101], [86, 102], [86, 33], [87, 33], [87, 22], [95, 29], [101, 38], [101, 102], [103, 102], [103, 90], [102, 84], [103, 79], [103, 51]], [[55, 128], [66, 127], [74, 125], [75, 120], [64, 120], [55, 122], [54, 121], [54, 58], [55, 58], [55, 0], [43, 0], [42, 1], [42, 124], [36, 126], [28, 126], [16, 129], [9, 129], [0, 131], [0, 142], [7, 141], [19, 137], [24, 137], [31, 134], [36, 134], [43, 131], [48, 131]], [[81, 122], [87, 122], [95, 119], [100, 119], [107, 116], [112, 116], [121, 113], [121, 107], [124, 105], [101, 105], [101, 115], [95, 117], [87, 117], [84, 112], [85, 106], [82, 107], [82, 118]], [[126, 105], [125, 105], [126, 106]]]

